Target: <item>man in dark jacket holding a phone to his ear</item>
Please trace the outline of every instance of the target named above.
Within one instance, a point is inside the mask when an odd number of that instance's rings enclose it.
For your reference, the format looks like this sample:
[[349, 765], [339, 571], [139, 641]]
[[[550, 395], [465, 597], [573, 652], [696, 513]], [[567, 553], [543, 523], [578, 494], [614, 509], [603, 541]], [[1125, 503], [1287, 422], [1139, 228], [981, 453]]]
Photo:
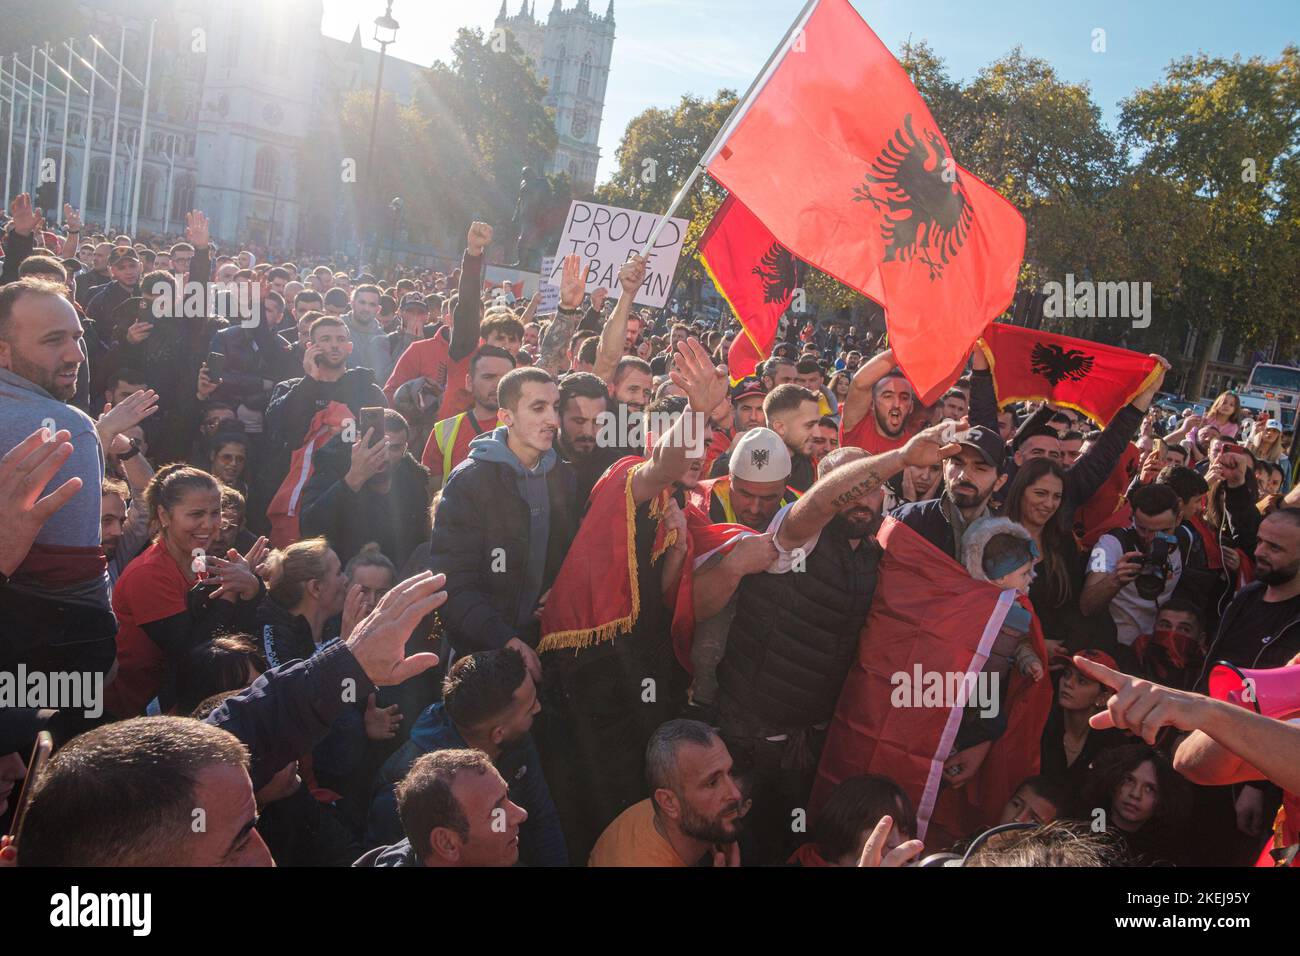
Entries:
[[358, 429], [348, 445], [338, 434], [317, 453], [303, 488], [302, 537], [329, 538], [341, 563], [368, 542], [396, 567], [429, 537], [429, 472], [410, 453], [411, 429], [384, 410], [384, 434]]

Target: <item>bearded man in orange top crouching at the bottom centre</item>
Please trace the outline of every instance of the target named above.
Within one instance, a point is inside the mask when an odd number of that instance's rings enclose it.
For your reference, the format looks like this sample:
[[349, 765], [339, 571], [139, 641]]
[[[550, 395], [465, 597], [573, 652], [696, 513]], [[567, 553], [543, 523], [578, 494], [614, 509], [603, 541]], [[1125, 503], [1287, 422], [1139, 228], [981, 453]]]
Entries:
[[650, 797], [606, 827], [588, 866], [740, 866], [741, 790], [712, 727], [668, 721], [645, 752]]

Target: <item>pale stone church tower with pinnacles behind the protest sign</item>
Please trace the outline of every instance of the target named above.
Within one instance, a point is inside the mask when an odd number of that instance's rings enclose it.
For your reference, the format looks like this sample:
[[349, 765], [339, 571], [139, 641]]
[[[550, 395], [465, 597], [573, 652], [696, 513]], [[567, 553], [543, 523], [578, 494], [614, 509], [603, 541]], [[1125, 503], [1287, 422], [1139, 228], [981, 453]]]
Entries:
[[568, 10], [554, 0], [545, 23], [536, 13], [537, 0], [523, 0], [514, 16], [502, 0], [495, 26], [514, 34], [547, 83], [545, 103], [555, 109], [559, 144], [546, 172], [568, 173], [575, 186], [590, 190], [601, 159], [601, 117], [614, 53], [614, 0], [604, 16], [593, 13], [589, 0], [577, 0]]

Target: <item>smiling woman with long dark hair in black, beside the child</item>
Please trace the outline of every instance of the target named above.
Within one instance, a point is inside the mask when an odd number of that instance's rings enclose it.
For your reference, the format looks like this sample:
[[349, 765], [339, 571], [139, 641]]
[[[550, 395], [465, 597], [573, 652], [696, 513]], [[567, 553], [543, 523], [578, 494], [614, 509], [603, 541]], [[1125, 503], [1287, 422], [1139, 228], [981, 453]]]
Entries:
[[1096, 648], [1113, 653], [1115, 649], [1110, 615], [1086, 618], [1079, 611], [1084, 555], [1061, 510], [1063, 497], [1065, 470], [1050, 458], [1031, 458], [1015, 473], [1004, 511], [1028, 531], [1039, 546], [1030, 602], [1043, 624], [1048, 656], [1057, 667], [1067, 650]]

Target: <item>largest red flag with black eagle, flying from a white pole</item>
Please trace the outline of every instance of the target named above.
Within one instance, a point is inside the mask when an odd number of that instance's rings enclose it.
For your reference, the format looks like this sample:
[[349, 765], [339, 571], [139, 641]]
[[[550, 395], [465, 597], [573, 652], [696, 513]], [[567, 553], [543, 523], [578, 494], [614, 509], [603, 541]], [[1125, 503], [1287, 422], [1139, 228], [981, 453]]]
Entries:
[[706, 169], [792, 255], [880, 303], [926, 403], [1015, 294], [1024, 220], [962, 169], [849, 0], [796, 25]]

